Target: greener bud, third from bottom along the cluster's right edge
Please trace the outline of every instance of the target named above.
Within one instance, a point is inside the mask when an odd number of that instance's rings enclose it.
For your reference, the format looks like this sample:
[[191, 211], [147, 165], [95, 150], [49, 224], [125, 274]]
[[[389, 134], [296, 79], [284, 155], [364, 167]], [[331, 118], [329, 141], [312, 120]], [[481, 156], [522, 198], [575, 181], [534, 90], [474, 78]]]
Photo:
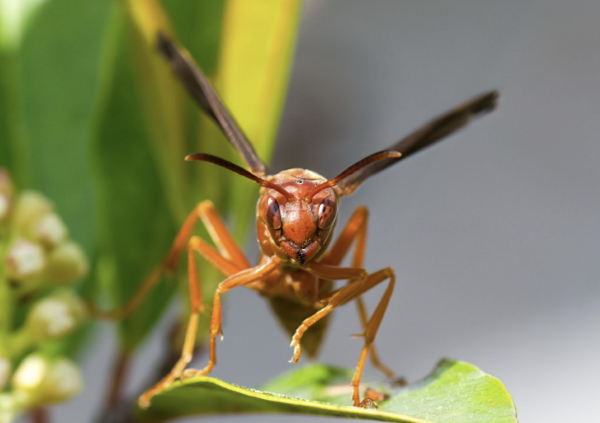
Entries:
[[88, 263], [81, 247], [66, 241], [48, 253], [43, 278], [55, 286], [68, 285], [86, 275]]

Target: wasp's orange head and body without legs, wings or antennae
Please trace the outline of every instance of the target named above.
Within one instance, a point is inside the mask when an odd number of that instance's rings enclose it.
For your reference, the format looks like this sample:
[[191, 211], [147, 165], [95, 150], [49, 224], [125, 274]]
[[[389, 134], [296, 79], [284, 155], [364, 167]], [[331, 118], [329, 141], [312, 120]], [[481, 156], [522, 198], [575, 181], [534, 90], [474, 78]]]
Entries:
[[[284, 329], [292, 335], [306, 318], [325, 305], [319, 304], [317, 299], [331, 291], [331, 281], [310, 274], [302, 269], [302, 265], [308, 261], [319, 262], [331, 242], [339, 190], [335, 187], [323, 190], [308, 204], [303, 201], [304, 197], [327, 181], [321, 175], [304, 169], [290, 169], [278, 173], [270, 181], [292, 193], [295, 200], [288, 201], [282, 194], [267, 188], [261, 190], [256, 212], [256, 233], [261, 249], [259, 263], [276, 255], [284, 260], [284, 264], [249, 288], [269, 299]], [[283, 222], [280, 229], [269, 226], [270, 197], [280, 206], [279, 220]], [[321, 207], [323, 201], [327, 205]], [[322, 227], [319, 227], [319, 218]], [[323, 227], [325, 225], [327, 227]], [[320, 320], [304, 335], [302, 346], [310, 357], [318, 352], [328, 322], [328, 317]]]

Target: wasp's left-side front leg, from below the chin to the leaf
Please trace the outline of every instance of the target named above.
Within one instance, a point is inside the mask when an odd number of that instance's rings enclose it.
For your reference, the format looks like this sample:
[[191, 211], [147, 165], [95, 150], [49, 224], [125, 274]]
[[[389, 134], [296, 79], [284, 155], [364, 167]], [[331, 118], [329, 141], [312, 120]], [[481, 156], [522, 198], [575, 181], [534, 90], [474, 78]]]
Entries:
[[247, 285], [267, 276], [281, 265], [281, 259], [271, 257], [266, 263], [250, 269], [242, 270], [232, 275], [219, 284], [213, 299], [212, 318], [210, 324], [210, 358], [206, 367], [202, 370], [186, 370], [182, 378], [192, 376], [206, 376], [217, 363], [217, 336], [222, 334], [221, 329], [221, 295], [238, 286]]

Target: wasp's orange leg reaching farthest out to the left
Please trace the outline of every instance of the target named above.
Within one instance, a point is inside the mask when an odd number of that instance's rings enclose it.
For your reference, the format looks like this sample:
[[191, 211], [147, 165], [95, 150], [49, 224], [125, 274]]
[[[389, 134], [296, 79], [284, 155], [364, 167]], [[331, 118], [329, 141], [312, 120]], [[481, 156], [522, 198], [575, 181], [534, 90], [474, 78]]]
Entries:
[[[96, 319], [116, 320], [122, 319], [131, 313], [133, 313], [137, 307], [141, 304], [142, 300], [150, 292], [150, 290], [159, 281], [160, 276], [166, 271], [172, 271], [177, 262], [186, 243], [192, 235], [192, 231], [196, 225], [198, 218], [202, 219], [204, 226], [206, 226], [212, 240], [214, 241], [219, 253], [217, 253], [212, 247], [205, 244], [202, 240], [203, 251], [211, 251], [211, 253], [202, 253], [199, 251], [207, 260], [215, 265], [222, 273], [226, 276], [237, 273], [242, 269], [250, 267], [250, 263], [244, 256], [244, 253], [236, 245], [233, 237], [225, 227], [223, 221], [219, 218], [212, 202], [203, 201], [198, 204], [194, 211], [187, 217], [179, 233], [173, 241], [173, 245], [167, 254], [167, 257], [160, 263], [150, 275], [144, 280], [138, 291], [134, 296], [125, 304], [123, 307], [116, 308], [109, 311], [98, 310], [93, 304], [88, 304], [90, 315]], [[217, 256], [222, 256], [223, 260], [219, 260]], [[224, 261], [229, 264], [225, 265]], [[221, 263], [221, 268], [216, 264]], [[227, 271], [224, 271], [227, 270]]]

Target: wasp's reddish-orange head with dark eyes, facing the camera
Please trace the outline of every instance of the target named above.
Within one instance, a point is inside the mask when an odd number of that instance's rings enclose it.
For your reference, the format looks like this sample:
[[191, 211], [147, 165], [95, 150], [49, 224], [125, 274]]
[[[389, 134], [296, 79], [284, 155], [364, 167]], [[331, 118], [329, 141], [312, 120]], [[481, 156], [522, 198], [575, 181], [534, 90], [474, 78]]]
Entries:
[[337, 218], [337, 195], [328, 188], [307, 199], [326, 179], [302, 169], [281, 172], [272, 180], [277, 181], [292, 195], [286, 198], [275, 190], [263, 190], [258, 203], [259, 226], [266, 227], [274, 253], [304, 265], [328, 244]]

